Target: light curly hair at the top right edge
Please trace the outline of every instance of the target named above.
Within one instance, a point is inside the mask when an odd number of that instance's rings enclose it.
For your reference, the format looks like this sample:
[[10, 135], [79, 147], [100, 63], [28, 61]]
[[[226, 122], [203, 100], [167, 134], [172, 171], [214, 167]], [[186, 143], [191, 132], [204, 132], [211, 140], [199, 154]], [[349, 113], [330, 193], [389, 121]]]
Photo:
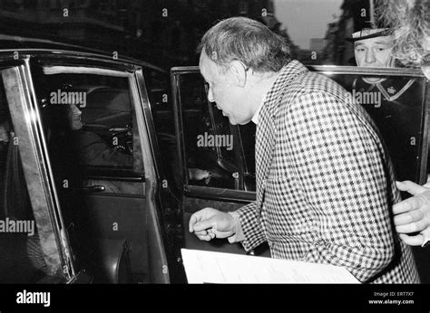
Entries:
[[430, 1], [377, 0], [377, 11], [386, 27], [393, 30], [393, 52], [406, 65], [430, 62]]

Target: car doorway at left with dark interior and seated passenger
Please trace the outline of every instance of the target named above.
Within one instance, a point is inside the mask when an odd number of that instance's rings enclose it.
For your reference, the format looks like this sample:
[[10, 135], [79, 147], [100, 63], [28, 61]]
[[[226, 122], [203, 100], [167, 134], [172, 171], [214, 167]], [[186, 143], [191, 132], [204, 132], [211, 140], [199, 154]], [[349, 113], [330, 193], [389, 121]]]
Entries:
[[142, 67], [64, 56], [41, 57], [32, 70], [81, 266], [94, 282], [169, 282]]

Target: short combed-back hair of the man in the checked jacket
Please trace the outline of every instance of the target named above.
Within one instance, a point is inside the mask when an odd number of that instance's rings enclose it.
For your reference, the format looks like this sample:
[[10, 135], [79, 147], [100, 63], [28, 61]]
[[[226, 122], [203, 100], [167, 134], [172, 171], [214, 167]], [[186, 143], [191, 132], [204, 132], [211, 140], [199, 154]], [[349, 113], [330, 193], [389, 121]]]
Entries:
[[197, 52], [224, 69], [233, 61], [258, 72], [279, 71], [291, 61], [287, 39], [247, 17], [231, 17], [203, 35]]

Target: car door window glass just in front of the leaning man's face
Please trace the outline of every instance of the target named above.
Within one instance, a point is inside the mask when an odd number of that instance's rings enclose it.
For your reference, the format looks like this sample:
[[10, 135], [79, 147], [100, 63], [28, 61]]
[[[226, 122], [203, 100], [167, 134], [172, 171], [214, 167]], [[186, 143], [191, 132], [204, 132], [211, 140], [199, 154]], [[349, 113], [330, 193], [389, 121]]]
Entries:
[[181, 75], [179, 90], [188, 184], [243, 189], [237, 128], [207, 100], [200, 74]]

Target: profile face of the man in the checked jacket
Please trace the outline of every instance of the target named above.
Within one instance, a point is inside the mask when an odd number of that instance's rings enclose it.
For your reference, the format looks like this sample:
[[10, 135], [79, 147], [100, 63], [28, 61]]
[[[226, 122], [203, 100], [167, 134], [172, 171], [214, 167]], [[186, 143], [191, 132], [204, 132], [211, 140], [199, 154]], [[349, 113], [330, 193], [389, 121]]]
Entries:
[[230, 123], [246, 124], [253, 112], [247, 103], [246, 88], [238, 86], [230, 77], [230, 70], [220, 72], [218, 65], [211, 61], [204, 51], [200, 54], [200, 72], [209, 83], [208, 100], [216, 102], [222, 115], [229, 118]]

